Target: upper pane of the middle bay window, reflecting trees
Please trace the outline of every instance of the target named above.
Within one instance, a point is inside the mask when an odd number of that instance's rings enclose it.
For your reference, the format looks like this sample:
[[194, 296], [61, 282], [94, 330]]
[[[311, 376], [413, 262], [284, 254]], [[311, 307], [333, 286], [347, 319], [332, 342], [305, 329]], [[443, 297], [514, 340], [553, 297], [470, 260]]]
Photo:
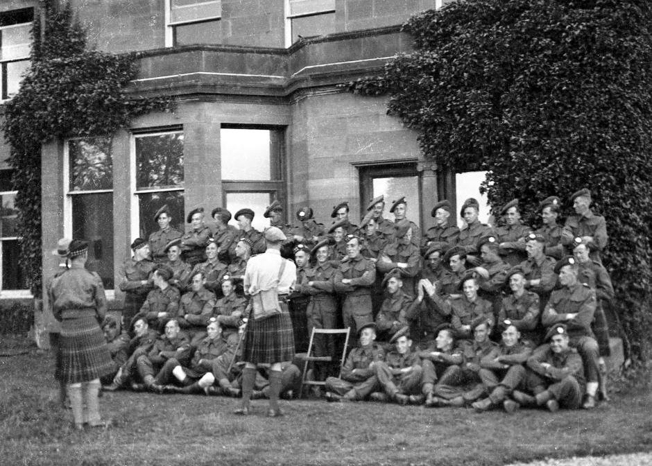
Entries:
[[136, 138], [136, 189], [183, 187], [183, 133]]

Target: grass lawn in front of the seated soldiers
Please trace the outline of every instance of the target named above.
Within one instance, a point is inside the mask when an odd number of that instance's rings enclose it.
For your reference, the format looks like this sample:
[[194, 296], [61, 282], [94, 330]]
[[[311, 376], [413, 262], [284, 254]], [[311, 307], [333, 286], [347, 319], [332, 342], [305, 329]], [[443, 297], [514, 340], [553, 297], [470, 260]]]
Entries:
[[236, 399], [113, 392], [106, 431], [71, 430], [49, 354], [0, 357], [0, 465], [503, 465], [652, 450], [648, 384], [593, 411], [472, 409], [282, 401], [268, 419], [231, 414]]

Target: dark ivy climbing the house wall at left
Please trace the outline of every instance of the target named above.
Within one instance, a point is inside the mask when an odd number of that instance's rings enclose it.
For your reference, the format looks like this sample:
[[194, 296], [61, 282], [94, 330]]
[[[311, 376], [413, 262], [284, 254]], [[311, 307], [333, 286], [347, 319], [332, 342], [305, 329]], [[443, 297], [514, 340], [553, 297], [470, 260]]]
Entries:
[[42, 144], [60, 137], [110, 136], [135, 116], [172, 105], [166, 97], [130, 94], [128, 84], [138, 71], [135, 55], [87, 50], [85, 31], [74, 21], [70, 5], [54, 3], [42, 3], [43, 25], [39, 17], [34, 21], [31, 67], [6, 103], [2, 123], [15, 169], [12, 188], [18, 191], [21, 266], [35, 295], [42, 268]]

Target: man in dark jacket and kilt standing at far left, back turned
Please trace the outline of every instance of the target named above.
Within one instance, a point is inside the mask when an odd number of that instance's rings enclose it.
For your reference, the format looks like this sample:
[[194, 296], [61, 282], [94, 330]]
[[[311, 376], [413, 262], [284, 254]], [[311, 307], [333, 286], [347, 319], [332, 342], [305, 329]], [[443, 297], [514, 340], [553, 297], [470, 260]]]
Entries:
[[113, 361], [98, 322], [106, 314], [102, 280], [85, 269], [88, 243], [69, 245], [69, 270], [54, 277], [48, 293], [54, 316], [61, 322], [61, 381], [67, 384], [74, 425], [107, 426], [99, 413], [100, 377], [113, 370]]

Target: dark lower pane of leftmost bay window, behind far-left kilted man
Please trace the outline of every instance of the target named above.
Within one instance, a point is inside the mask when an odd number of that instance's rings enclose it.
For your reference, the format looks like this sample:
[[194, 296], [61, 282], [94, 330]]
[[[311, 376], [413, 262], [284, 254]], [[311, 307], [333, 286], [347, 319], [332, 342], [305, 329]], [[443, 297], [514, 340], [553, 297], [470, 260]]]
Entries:
[[113, 283], [113, 193], [80, 194], [72, 197], [72, 236], [88, 245], [86, 268], [97, 272], [104, 287]]

